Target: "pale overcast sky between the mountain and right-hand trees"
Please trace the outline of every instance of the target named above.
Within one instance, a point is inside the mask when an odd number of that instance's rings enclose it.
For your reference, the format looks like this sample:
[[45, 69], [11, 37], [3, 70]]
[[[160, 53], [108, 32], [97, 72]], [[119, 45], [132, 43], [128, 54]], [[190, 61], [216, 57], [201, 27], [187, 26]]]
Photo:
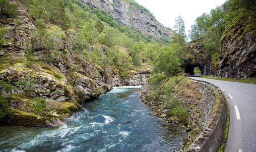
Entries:
[[174, 20], [180, 15], [186, 26], [191, 29], [196, 17], [210, 13], [211, 9], [223, 4], [226, 0], [135, 0], [146, 7], [155, 18], [166, 27], [173, 29]]

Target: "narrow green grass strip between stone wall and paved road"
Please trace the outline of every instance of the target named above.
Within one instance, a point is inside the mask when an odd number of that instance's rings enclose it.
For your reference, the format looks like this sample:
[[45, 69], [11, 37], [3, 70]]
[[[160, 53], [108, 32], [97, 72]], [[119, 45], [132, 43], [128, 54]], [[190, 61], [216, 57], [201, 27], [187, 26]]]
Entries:
[[[222, 94], [224, 95], [223, 92], [222, 92]], [[225, 102], [224, 104], [227, 107], [227, 121], [226, 121], [225, 130], [224, 130], [223, 141], [222, 141], [222, 144], [221, 144], [221, 146], [219, 148], [219, 152], [224, 152], [225, 151], [226, 143], [227, 143], [227, 139], [228, 139], [228, 132], [229, 132], [229, 116], [230, 116], [230, 113], [229, 113], [228, 102], [227, 102], [225, 97], [224, 97], [224, 102]]]

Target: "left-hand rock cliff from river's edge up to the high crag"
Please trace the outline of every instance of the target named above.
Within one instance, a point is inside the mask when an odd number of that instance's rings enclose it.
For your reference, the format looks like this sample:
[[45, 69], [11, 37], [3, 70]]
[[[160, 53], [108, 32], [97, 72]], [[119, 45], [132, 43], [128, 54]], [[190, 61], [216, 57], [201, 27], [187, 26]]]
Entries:
[[[122, 79], [113, 68], [106, 70], [81, 60], [72, 45], [77, 37], [73, 29], [65, 31], [64, 38], [54, 37], [58, 50], [42, 49], [27, 8], [16, 3], [16, 17], [0, 22], [4, 42], [0, 48], [0, 102], [2, 106], [7, 101], [9, 107], [4, 108], [9, 109], [9, 124], [58, 126], [81, 109], [80, 103], [114, 86], [145, 83], [145, 73], [136, 71]], [[47, 26], [51, 29], [52, 25]]]

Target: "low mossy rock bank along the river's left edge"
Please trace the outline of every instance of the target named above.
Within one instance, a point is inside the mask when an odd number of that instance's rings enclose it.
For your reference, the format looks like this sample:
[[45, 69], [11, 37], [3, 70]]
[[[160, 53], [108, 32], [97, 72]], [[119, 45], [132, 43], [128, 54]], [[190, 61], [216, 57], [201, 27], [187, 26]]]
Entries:
[[60, 79], [44, 70], [27, 69], [22, 63], [0, 70], [0, 79], [12, 82], [10, 90], [1, 93], [10, 105], [8, 124], [59, 126], [65, 117], [81, 109], [80, 103], [96, 99], [114, 86], [143, 85], [149, 75], [134, 71], [122, 79], [113, 71], [111, 75], [92, 79], [80, 71], [71, 78], [62, 74]]

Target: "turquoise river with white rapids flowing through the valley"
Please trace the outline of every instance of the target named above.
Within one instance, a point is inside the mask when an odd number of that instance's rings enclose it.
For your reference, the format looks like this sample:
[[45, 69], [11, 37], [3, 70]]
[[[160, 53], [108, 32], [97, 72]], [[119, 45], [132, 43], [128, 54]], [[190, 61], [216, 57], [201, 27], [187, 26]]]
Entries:
[[0, 127], [0, 151], [172, 152], [184, 136], [183, 128], [149, 115], [138, 88], [117, 87], [61, 127]]

